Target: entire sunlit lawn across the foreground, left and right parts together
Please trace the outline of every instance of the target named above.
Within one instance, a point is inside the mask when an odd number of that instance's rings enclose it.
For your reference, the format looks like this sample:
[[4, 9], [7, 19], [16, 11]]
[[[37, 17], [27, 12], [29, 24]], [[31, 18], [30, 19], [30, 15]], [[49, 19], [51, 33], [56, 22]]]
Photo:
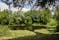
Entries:
[[[2, 33], [1, 33], [1, 30], [2, 30]], [[35, 29], [34, 31], [10, 30], [8, 29], [8, 26], [3, 26], [3, 27], [0, 26], [0, 40], [13, 39], [13, 38], [18, 38], [18, 37], [28, 37], [28, 36], [34, 36], [36, 38], [36, 36], [44, 37], [44, 36], [51, 35], [51, 34], [59, 34], [59, 33], [50, 32], [47, 29]]]

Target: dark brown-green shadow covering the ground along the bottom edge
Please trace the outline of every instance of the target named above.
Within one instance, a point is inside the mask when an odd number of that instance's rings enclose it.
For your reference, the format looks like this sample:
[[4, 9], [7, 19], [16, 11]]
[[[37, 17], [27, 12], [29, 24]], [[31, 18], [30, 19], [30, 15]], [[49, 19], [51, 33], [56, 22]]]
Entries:
[[35, 32], [35, 36], [24, 36], [24, 37], [18, 37], [18, 38], [13, 38], [13, 39], [8, 39], [8, 40], [59, 40], [59, 35], [58, 34], [41, 34], [38, 32]]

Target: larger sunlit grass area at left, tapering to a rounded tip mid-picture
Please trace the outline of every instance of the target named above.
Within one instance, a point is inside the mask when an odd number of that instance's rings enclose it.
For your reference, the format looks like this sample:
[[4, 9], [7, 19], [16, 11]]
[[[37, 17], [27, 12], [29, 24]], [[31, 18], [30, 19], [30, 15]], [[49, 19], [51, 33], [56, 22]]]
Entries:
[[28, 30], [10, 30], [6, 25], [0, 25], [0, 38], [16, 38], [24, 36], [34, 36], [35, 33]]

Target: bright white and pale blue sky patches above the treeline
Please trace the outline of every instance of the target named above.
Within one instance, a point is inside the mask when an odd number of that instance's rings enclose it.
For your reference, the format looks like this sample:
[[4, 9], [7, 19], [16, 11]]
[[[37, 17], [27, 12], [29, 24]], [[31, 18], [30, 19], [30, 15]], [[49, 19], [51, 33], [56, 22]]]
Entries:
[[[1, 2], [1, 0], [0, 0], [0, 11], [3, 11], [5, 9], [8, 9], [8, 6], [5, 3]], [[14, 12], [14, 11], [18, 11], [18, 8], [17, 7], [14, 8], [13, 5], [11, 5], [11, 9], [10, 10], [12, 10]], [[24, 7], [22, 9], [22, 11], [28, 11], [28, 10], [30, 10], [30, 7], [27, 6], [27, 5], [26, 5], [26, 7]]]

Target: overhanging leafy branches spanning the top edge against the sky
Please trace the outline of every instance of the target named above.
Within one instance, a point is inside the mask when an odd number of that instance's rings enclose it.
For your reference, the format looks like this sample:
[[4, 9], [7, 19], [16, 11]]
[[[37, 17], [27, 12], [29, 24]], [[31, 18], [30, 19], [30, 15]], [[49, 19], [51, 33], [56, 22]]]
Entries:
[[30, 5], [31, 8], [34, 8], [39, 6], [45, 7], [46, 4], [53, 5], [55, 3], [55, 0], [13, 0], [12, 2], [10, 2], [10, 0], [2, 1], [9, 5], [9, 7], [10, 4], [13, 3], [14, 7], [18, 7], [18, 9], [20, 8], [20, 10], [22, 10], [22, 8], [27, 4]]

